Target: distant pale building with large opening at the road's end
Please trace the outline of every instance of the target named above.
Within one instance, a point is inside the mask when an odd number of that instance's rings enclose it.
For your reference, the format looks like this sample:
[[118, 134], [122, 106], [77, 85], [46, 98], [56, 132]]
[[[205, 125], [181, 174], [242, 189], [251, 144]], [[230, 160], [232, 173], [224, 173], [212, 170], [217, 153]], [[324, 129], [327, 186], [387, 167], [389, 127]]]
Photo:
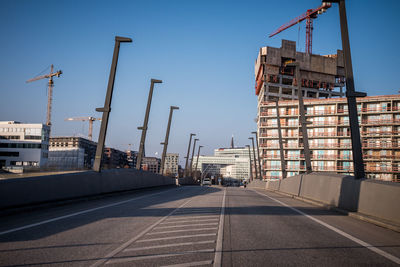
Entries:
[[[250, 149], [250, 152], [251, 162], [254, 164], [253, 149]], [[196, 168], [196, 161], [197, 159], [193, 160], [193, 169]], [[250, 178], [249, 149], [247, 147], [215, 149], [214, 156], [199, 156], [196, 170], [201, 171], [203, 175], [221, 175], [248, 180]]]

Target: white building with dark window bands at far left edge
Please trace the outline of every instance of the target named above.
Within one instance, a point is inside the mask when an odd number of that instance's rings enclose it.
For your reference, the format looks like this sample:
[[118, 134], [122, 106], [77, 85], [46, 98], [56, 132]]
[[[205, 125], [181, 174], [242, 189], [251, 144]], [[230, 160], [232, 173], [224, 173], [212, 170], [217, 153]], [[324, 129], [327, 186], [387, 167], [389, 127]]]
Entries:
[[41, 123], [0, 121], [0, 167], [43, 167], [49, 153], [50, 127]]

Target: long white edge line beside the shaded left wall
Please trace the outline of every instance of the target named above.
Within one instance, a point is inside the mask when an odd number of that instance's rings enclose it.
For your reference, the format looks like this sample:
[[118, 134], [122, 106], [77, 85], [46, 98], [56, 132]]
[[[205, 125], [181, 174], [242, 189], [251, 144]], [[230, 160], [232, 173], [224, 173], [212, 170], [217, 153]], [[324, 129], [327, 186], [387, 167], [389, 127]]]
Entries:
[[142, 198], [145, 198], [145, 197], [151, 197], [151, 196], [163, 194], [165, 192], [168, 192], [168, 191], [171, 191], [171, 190], [174, 190], [174, 189], [176, 189], [176, 188], [168, 189], [166, 191], [158, 192], [158, 193], [154, 193], [154, 194], [150, 194], [150, 195], [144, 195], [144, 196], [140, 196], [140, 197], [131, 198], [131, 199], [128, 199], [128, 200], [124, 200], [124, 201], [120, 201], [120, 202], [104, 205], [104, 206], [93, 208], [93, 209], [88, 209], [88, 210], [83, 210], [83, 211], [71, 213], [71, 214], [68, 214], [68, 215], [52, 218], [52, 219], [49, 219], [49, 220], [44, 220], [44, 221], [37, 222], [37, 223], [28, 224], [28, 225], [25, 225], [25, 226], [21, 226], [21, 227], [17, 227], [17, 228], [13, 228], [13, 229], [10, 229], [10, 230], [6, 230], [6, 231], [3, 231], [3, 232], [0, 232], [0, 235], [5, 235], [5, 234], [12, 233], [12, 232], [16, 232], [16, 231], [32, 228], [32, 227], [35, 227], [35, 226], [43, 225], [43, 224], [46, 224], [46, 223], [51, 223], [51, 222], [59, 221], [59, 220], [62, 220], [62, 219], [67, 219], [67, 218], [70, 218], [70, 217], [74, 217], [74, 216], [77, 216], [77, 215], [89, 213], [89, 212], [92, 212], [92, 211], [96, 211], [96, 210], [100, 210], [100, 209], [105, 209], [105, 208], [121, 205], [121, 204], [130, 202], [130, 201], [142, 199]]

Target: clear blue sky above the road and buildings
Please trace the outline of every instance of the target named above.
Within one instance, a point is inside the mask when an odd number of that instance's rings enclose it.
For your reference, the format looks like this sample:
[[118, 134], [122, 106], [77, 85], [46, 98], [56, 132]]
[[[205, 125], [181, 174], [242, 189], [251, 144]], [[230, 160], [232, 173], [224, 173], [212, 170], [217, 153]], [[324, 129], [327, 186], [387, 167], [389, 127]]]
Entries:
[[[47, 81], [26, 84], [50, 64], [55, 78], [53, 136], [87, 134], [87, 122], [104, 104], [116, 35], [122, 44], [106, 145], [138, 149], [150, 79], [162, 79], [153, 96], [147, 155], [161, 154], [170, 105], [174, 112], [168, 152], [186, 155], [190, 132], [202, 154], [244, 146], [256, 129], [254, 61], [262, 46], [300, 41], [305, 24], [270, 39], [268, 34], [319, 0], [296, 1], [20, 1], [0, 2], [0, 120], [45, 122]], [[346, 3], [356, 89], [397, 94], [400, 1]], [[314, 21], [313, 53], [341, 49], [338, 8]], [[95, 122], [97, 140], [99, 122]]]

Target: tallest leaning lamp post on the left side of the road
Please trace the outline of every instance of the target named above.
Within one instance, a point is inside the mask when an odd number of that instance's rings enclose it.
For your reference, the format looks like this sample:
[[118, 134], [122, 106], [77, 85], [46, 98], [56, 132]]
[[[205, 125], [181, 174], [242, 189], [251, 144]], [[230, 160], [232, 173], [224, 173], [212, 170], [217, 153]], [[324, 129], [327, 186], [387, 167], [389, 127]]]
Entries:
[[108, 117], [110, 116], [110, 111], [111, 111], [111, 99], [114, 90], [115, 73], [117, 72], [119, 45], [120, 43], [131, 43], [131, 42], [132, 42], [131, 38], [120, 37], [120, 36], [115, 37], [114, 54], [111, 63], [110, 76], [108, 78], [107, 94], [104, 102], [104, 107], [96, 108], [96, 111], [103, 112], [103, 117], [101, 119], [101, 126], [100, 126], [100, 134], [96, 148], [96, 156], [93, 163], [93, 170], [96, 172], [101, 171], [101, 160], [103, 157], [104, 143], [106, 141], [106, 135], [107, 135]]

